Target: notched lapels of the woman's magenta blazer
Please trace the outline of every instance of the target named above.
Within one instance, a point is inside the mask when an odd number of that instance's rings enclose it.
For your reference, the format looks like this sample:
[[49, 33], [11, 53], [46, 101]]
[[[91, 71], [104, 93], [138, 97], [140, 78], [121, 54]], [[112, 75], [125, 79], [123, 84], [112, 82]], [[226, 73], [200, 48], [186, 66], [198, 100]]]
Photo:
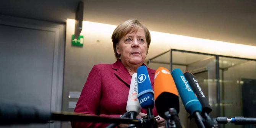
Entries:
[[[146, 66], [144, 63], [142, 65]], [[117, 62], [112, 64], [112, 68], [116, 70], [114, 71], [115, 75], [117, 75], [118, 78], [120, 78], [124, 83], [130, 86], [131, 76], [129, 72], [126, 70], [125, 66], [123, 65], [120, 59], [118, 59]], [[147, 68], [147, 72], [149, 73], [149, 78], [152, 86], [154, 84], [155, 70]]]

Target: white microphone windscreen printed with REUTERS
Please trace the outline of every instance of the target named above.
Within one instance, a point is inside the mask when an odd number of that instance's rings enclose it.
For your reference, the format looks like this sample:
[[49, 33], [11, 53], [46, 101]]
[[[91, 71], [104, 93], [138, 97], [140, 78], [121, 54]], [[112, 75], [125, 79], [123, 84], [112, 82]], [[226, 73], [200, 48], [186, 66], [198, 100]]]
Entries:
[[137, 81], [137, 73], [134, 73], [131, 77], [131, 85], [130, 91], [128, 95], [126, 111], [127, 112], [136, 112], [138, 115], [141, 112], [141, 105], [138, 100], [138, 81]]

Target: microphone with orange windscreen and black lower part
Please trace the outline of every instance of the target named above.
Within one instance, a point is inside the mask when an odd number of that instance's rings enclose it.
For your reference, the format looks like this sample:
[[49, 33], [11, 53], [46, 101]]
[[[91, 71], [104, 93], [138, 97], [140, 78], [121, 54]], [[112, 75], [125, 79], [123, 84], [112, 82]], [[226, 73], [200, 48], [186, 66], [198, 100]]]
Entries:
[[[156, 70], [154, 92], [156, 110], [160, 117], [165, 118], [165, 120], [174, 120], [177, 128], [182, 128], [178, 118], [180, 111], [178, 91], [168, 69], [160, 67]], [[168, 123], [166, 125], [168, 128]]]

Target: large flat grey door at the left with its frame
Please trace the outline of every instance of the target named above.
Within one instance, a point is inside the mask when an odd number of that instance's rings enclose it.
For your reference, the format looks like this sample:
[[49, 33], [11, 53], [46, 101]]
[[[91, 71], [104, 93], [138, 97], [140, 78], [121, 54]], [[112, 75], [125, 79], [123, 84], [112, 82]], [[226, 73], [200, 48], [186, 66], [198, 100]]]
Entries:
[[[64, 28], [63, 24], [0, 16], [0, 102], [61, 110]], [[7, 127], [60, 125], [55, 122]]]

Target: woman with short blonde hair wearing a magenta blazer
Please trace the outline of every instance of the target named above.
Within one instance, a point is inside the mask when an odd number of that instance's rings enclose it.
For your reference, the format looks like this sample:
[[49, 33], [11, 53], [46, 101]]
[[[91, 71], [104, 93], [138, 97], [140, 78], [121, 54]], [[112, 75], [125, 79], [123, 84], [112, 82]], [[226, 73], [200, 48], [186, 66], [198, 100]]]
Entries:
[[[145, 65], [151, 37], [145, 26], [138, 20], [131, 19], [117, 26], [112, 34], [112, 42], [117, 62], [111, 65], [94, 65], [74, 112], [102, 117], [120, 117], [126, 112], [131, 76], [139, 66]], [[155, 70], [147, 68], [147, 71], [153, 87]], [[143, 118], [145, 113], [146, 110], [142, 109], [137, 118]], [[158, 115], [155, 108], [153, 114]], [[163, 118], [157, 122], [158, 126], [164, 126]], [[73, 128], [103, 128], [107, 125], [109, 124], [72, 123]]]

